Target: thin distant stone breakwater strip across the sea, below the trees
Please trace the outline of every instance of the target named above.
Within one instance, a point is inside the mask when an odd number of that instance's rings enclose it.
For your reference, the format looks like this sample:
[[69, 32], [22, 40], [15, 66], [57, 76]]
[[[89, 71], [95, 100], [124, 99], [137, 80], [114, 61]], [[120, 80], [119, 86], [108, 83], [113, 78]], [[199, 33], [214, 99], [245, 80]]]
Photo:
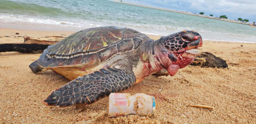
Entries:
[[163, 11], [169, 11], [169, 12], [176, 12], [176, 13], [180, 13], [180, 14], [193, 15], [193, 16], [203, 17], [203, 18], [216, 19], [216, 20], [220, 20], [220, 21], [227, 21], [227, 22], [233, 22], [233, 23], [240, 23], [240, 24], [243, 24], [243, 25], [252, 25], [252, 23], [249, 23], [249, 22], [240, 22], [240, 21], [231, 20], [231, 19], [220, 19], [220, 18], [218, 18], [218, 17], [210, 17], [210, 16], [208, 16], [208, 15], [194, 14], [194, 13], [191, 13], [191, 12], [183, 12], [183, 11], [169, 10], [169, 9], [163, 9], [163, 8], [149, 7], [149, 6], [143, 6], [143, 5], [132, 4], [132, 3], [127, 3], [127, 2], [121, 2], [121, 1], [117, 1], [117, 0], [114, 0], [114, 1], [112, 1], [112, 2], [115, 2], [115, 3], [122, 3], [122, 4], [129, 4], [129, 5], [133, 5], [133, 6], [139, 6], [139, 7], [152, 8], [152, 9], [156, 9], [156, 10], [163, 10]]

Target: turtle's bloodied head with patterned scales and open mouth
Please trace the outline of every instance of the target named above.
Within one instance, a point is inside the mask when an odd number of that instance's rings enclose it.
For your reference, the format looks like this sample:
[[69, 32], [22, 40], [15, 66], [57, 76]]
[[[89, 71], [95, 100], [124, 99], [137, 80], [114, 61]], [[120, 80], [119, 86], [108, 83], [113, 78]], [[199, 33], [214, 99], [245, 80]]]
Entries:
[[[184, 68], [193, 62], [196, 56], [200, 55], [200, 49], [203, 41], [199, 33], [189, 30], [170, 34], [159, 39], [162, 44], [162, 52], [168, 56], [168, 60], [164, 62], [165, 67], [171, 76], [178, 69]], [[175, 72], [176, 71], [176, 72]], [[171, 73], [175, 72], [175, 73]]]

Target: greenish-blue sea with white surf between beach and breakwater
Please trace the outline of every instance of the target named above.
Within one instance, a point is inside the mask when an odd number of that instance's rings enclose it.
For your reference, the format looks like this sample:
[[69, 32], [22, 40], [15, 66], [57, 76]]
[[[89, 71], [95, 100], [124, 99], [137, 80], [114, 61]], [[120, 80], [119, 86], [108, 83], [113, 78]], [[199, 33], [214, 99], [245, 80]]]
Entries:
[[256, 28], [248, 25], [107, 0], [0, 0], [0, 22], [84, 29], [120, 26], [156, 35], [195, 30], [207, 40], [256, 43]]

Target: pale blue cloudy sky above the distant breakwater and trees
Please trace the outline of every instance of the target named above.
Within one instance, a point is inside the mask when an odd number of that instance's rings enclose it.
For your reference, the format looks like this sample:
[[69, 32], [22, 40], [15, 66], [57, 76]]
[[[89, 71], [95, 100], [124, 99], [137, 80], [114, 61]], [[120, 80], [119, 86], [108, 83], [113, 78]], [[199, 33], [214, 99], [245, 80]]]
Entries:
[[214, 17], [227, 15], [228, 19], [249, 19], [256, 21], [256, 0], [122, 0], [127, 3], [169, 10], [204, 12]]

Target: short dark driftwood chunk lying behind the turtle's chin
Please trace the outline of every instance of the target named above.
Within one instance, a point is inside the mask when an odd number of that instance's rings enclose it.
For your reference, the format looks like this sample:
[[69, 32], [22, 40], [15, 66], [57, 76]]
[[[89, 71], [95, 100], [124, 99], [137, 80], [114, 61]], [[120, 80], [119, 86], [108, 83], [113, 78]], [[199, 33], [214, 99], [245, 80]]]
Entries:
[[201, 55], [197, 56], [195, 61], [190, 65], [201, 66], [201, 67], [211, 67], [211, 68], [228, 68], [228, 64], [220, 57], [216, 57], [210, 52], [202, 52]]

